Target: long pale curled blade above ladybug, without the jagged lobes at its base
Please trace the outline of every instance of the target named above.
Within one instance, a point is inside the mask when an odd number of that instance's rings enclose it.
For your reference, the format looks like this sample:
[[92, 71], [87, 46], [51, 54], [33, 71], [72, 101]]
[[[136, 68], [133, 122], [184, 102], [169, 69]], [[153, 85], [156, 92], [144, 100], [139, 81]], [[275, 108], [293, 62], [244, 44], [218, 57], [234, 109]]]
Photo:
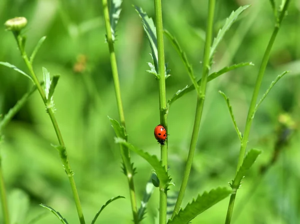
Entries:
[[[148, 37], [150, 48], [151, 48], [151, 56], [153, 60], [153, 65], [155, 67], [156, 74], [158, 74], [158, 51], [157, 51], [157, 38], [156, 38], [156, 28], [152, 18], [148, 17], [147, 13], [145, 13], [141, 7], [134, 5], [136, 12], [141, 18], [142, 26], [145, 30], [146, 36]], [[152, 69], [151, 69], [152, 70]], [[156, 75], [158, 77], [158, 75]]]

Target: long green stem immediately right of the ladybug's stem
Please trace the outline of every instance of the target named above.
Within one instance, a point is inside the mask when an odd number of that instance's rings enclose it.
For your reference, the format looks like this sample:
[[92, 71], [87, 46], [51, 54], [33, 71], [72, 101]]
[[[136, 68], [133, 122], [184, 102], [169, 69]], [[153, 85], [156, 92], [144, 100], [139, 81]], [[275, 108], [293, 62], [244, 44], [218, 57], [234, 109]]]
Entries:
[[205, 46], [204, 46], [204, 56], [203, 56], [203, 69], [202, 69], [202, 78], [201, 84], [199, 86], [199, 93], [200, 96], [197, 96], [197, 105], [196, 105], [196, 112], [195, 112], [195, 120], [194, 126], [192, 130], [190, 146], [187, 156], [187, 161], [184, 169], [183, 179], [181, 182], [178, 198], [172, 213], [172, 218], [178, 213], [180, 209], [180, 205], [184, 196], [185, 188], [187, 185], [193, 155], [197, 143], [197, 138], [199, 134], [199, 126], [201, 122], [201, 116], [203, 111], [204, 99], [205, 99], [205, 91], [206, 91], [206, 83], [207, 83], [207, 76], [210, 69], [209, 66], [209, 52], [210, 52], [210, 45], [211, 45], [211, 37], [212, 37], [212, 26], [213, 26], [213, 14], [214, 14], [214, 5], [215, 0], [209, 0], [208, 3], [208, 19], [207, 19], [207, 28], [206, 28], [206, 37], [205, 37]]

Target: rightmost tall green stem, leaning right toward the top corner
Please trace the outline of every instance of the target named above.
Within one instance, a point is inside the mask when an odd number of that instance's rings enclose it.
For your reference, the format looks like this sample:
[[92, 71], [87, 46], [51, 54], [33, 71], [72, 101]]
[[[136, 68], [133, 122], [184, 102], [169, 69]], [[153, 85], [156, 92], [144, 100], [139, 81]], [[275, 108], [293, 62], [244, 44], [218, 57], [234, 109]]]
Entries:
[[[262, 57], [262, 61], [261, 61], [261, 64], [260, 64], [260, 68], [259, 68], [259, 71], [258, 71], [258, 75], [257, 75], [257, 78], [256, 78], [256, 82], [255, 82], [255, 86], [254, 86], [254, 90], [253, 90], [253, 94], [252, 94], [252, 98], [251, 98], [251, 102], [250, 102], [250, 106], [249, 106], [249, 109], [248, 109], [244, 134], [243, 134], [241, 144], [240, 144], [240, 150], [239, 150], [239, 156], [238, 156], [238, 161], [237, 161], [236, 173], [238, 172], [239, 167], [241, 166], [241, 164], [243, 162], [243, 159], [244, 159], [245, 150], [246, 150], [246, 146], [247, 146], [247, 142], [248, 142], [248, 137], [249, 137], [249, 133], [250, 133], [251, 124], [252, 124], [253, 117], [254, 117], [255, 106], [256, 106], [256, 101], [257, 101], [261, 81], [262, 81], [262, 78], [263, 78], [263, 75], [264, 75], [264, 72], [265, 72], [265, 68], [266, 68], [266, 65], [267, 65], [267, 62], [268, 62], [268, 59], [269, 59], [269, 56], [270, 56], [271, 48], [272, 48], [273, 43], [275, 41], [276, 35], [279, 31], [281, 21], [282, 21], [284, 15], [286, 13], [288, 3], [289, 3], [289, 0], [286, 0], [285, 3], [284, 3], [284, 6], [282, 8], [282, 11], [281, 11], [281, 13], [280, 13], [280, 15], [277, 19], [277, 22], [275, 24], [275, 27], [274, 27], [274, 30], [272, 32], [271, 38], [270, 38], [270, 40], [267, 44], [267, 47], [264, 51], [264, 55]], [[238, 183], [237, 185], [232, 186], [232, 194], [231, 194], [230, 199], [229, 199], [225, 224], [229, 224], [230, 221], [231, 221], [234, 200], [235, 200], [236, 191], [239, 187], [239, 184], [240, 183]]]

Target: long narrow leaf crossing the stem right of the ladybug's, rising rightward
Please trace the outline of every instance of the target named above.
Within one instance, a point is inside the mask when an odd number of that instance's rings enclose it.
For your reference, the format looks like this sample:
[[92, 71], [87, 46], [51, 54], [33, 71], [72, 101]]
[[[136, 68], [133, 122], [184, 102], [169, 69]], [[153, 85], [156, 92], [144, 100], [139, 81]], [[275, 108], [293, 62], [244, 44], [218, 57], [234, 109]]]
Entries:
[[[235, 68], [247, 66], [247, 65], [254, 65], [252, 62], [243, 62], [243, 63], [238, 63], [238, 64], [233, 64], [231, 66], [226, 66], [220, 69], [219, 71], [213, 72], [207, 77], [207, 82], [213, 80], [214, 78], [220, 76], [221, 74], [224, 74], [228, 71], [231, 71]], [[201, 78], [197, 81], [198, 85], [201, 84]], [[194, 85], [186, 85], [184, 88], [179, 89], [168, 101], [167, 104], [170, 106], [175, 100], [183, 96], [184, 94], [192, 91], [195, 89]]]

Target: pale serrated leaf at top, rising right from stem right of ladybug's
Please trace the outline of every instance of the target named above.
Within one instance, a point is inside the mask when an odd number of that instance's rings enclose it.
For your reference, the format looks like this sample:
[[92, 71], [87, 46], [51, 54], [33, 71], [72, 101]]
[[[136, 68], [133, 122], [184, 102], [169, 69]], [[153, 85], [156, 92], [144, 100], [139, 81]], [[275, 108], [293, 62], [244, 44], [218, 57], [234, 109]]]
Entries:
[[211, 48], [210, 48], [210, 53], [209, 53], [209, 59], [210, 59], [210, 61], [213, 58], [213, 54], [215, 52], [215, 49], [216, 49], [217, 45], [222, 40], [222, 38], [225, 35], [226, 31], [231, 27], [231, 25], [236, 20], [236, 18], [238, 17], [238, 15], [241, 12], [243, 12], [246, 8], [248, 8], [249, 6], [250, 5], [240, 6], [235, 11], [232, 11], [231, 14], [229, 15], [229, 17], [226, 18], [225, 24], [223, 25], [223, 27], [221, 29], [219, 29], [216, 37], [213, 39], [213, 42], [212, 42], [212, 45], [211, 45]]

